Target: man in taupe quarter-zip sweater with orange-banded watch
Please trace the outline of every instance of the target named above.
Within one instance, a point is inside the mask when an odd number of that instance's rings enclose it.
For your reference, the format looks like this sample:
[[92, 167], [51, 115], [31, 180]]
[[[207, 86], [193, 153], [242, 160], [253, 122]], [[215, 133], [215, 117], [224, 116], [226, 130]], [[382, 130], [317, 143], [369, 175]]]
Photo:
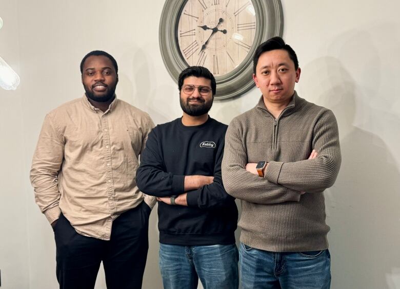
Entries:
[[336, 119], [294, 91], [301, 70], [281, 37], [257, 48], [253, 73], [263, 96], [230, 123], [222, 163], [242, 202], [242, 287], [329, 288], [323, 191], [341, 165]]

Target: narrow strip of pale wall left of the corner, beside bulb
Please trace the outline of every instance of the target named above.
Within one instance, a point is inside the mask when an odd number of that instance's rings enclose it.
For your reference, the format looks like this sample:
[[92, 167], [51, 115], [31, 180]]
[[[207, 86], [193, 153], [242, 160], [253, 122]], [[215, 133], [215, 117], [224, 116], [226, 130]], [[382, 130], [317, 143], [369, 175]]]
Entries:
[[[0, 17], [4, 21], [0, 29], [0, 56], [20, 72], [17, 5], [12, 0], [0, 2]], [[29, 287], [22, 102], [20, 90], [0, 88], [0, 270], [5, 288]]]

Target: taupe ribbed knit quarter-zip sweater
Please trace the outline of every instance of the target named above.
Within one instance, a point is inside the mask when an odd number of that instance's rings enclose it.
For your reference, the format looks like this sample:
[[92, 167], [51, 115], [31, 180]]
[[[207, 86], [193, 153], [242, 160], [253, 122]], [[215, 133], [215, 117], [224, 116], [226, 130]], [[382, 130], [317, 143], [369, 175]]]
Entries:
[[[315, 149], [317, 158], [308, 160]], [[264, 177], [247, 163], [267, 161]], [[275, 119], [263, 97], [229, 124], [222, 177], [241, 199], [241, 242], [271, 252], [328, 248], [323, 191], [341, 165], [339, 135], [331, 110], [297, 96]], [[301, 194], [301, 192], [306, 192]]]

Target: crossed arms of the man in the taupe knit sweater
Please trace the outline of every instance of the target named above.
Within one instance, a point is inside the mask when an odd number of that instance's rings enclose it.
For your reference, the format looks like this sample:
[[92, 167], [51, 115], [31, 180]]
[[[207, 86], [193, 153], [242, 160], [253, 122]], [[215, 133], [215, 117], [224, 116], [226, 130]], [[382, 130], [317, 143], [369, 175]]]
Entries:
[[[226, 134], [223, 181], [227, 192], [258, 204], [298, 202], [302, 192], [322, 192], [333, 185], [341, 164], [336, 119], [330, 110], [322, 113], [313, 127], [312, 147], [317, 155], [298, 162], [271, 161], [264, 177], [247, 164], [247, 147], [241, 125], [232, 121]], [[268, 161], [268, 160], [267, 160]]]

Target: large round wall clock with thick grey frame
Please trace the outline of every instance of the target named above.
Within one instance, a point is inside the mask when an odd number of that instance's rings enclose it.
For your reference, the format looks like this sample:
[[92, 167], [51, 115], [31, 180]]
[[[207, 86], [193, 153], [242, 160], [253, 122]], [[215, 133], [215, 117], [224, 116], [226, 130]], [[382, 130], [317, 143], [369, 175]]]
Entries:
[[226, 99], [254, 86], [255, 49], [282, 32], [280, 0], [166, 0], [159, 43], [176, 82], [188, 66], [205, 66], [217, 82], [215, 98]]

